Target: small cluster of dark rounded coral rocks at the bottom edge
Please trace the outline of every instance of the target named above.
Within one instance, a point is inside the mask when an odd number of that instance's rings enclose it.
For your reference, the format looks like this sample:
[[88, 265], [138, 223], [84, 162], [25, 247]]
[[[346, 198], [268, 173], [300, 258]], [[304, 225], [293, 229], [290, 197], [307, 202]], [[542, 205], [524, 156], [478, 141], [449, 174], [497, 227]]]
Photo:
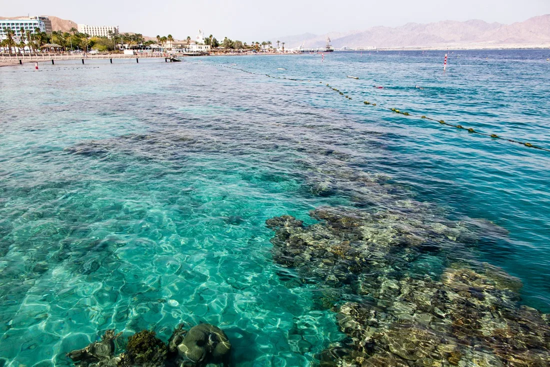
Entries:
[[210, 324], [185, 330], [179, 325], [168, 344], [154, 331], [142, 330], [131, 335], [123, 353], [115, 355], [114, 330], [107, 330], [101, 341], [67, 353], [77, 367], [203, 367], [230, 364], [231, 343], [226, 333]]

